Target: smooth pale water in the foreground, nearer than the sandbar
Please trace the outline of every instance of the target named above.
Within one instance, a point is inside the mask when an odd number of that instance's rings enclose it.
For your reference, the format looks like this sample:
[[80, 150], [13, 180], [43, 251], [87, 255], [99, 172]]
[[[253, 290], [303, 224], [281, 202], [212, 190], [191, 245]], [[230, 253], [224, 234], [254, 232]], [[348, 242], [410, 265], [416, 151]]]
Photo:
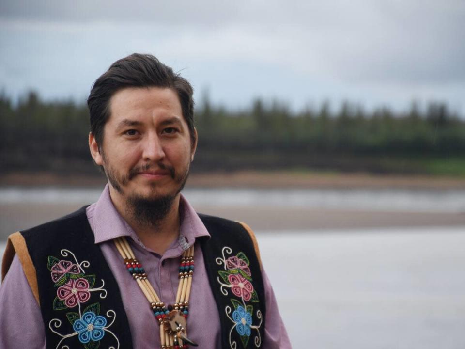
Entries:
[[465, 348], [464, 232], [257, 237], [294, 348], [459, 349]]

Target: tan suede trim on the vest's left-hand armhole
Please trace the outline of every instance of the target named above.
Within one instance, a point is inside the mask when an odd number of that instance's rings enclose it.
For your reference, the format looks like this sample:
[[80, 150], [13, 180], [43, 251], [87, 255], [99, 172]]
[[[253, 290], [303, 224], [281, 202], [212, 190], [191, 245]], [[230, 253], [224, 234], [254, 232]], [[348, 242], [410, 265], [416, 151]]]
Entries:
[[18, 254], [19, 261], [21, 262], [24, 274], [26, 275], [26, 279], [31, 287], [32, 294], [34, 295], [37, 304], [40, 305], [37, 274], [34, 264], [32, 263], [31, 256], [29, 255], [26, 240], [20, 232], [16, 232], [8, 237], [5, 253], [3, 254], [3, 260], [1, 262], [1, 280], [3, 281], [6, 273], [10, 269], [15, 253]]

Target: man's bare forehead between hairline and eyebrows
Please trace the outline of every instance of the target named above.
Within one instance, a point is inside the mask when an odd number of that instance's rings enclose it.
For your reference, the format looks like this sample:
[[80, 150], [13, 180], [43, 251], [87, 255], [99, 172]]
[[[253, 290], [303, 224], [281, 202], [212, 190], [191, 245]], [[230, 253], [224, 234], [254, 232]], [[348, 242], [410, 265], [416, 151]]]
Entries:
[[110, 116], [108, 123], [121, 118], [142, 117], [179, 117], [183, 112], [179, 97], [170, 88], [128, 87], [116, 92], [109, 101]]

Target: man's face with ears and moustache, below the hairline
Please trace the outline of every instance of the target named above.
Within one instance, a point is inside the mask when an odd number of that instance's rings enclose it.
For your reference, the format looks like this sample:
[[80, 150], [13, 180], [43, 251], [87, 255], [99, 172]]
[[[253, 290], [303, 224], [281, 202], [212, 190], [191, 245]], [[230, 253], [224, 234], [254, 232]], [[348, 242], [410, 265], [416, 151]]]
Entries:
[[126, 88], [111, 97], [109, 108], [100, 152], [92, 135], [90, 147], [109, 178], [113, 201], [176, 196], [196, 145], [176, 93], [169, 88]]

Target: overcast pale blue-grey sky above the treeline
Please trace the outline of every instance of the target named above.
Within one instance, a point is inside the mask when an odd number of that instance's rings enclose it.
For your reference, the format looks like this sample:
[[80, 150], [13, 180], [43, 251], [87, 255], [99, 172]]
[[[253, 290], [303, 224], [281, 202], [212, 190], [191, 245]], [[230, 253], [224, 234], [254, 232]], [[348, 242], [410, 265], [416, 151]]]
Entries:
[[465, 0], [2, 0], [0, 89], [83, 101], [111, 63], [152, 53], [215, 104], [348, 100], [465, 116]]

